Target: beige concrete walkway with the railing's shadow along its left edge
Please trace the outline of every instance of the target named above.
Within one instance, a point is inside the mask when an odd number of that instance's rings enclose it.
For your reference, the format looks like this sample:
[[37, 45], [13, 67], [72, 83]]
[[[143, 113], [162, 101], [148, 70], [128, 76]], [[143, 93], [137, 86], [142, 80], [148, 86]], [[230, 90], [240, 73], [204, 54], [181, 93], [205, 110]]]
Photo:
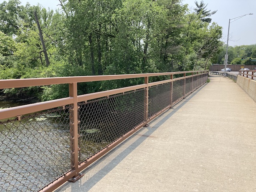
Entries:
[[209, 79], [57, 191], [256, 192], [256, 103]]

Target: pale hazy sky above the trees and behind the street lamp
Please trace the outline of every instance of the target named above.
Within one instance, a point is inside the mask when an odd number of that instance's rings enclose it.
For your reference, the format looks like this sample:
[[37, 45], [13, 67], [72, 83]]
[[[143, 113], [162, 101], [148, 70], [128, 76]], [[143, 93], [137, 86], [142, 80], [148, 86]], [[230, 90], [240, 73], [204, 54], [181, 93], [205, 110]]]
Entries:
[[[8, 1], [8, 0], [7, 0]], [[22, 5], [29, 2], [30, 5], [40, 3], [45, 8], [53, 10], [59, 8], [58, 0], [20, 0]], [[200, 2], [200, 0], [198, 0]], [[231, 46], [235, 45], [251, 45], [256, 44], [256, 0], [203, 0], [208, 10], [218, 10], [211, 16], [212, 22], [223, 27], [223, 41], [226, 43], [228, 36], [228, 20], [246, 15], [230, 24], [229, 41]], [[3, 3], [3, 0], [0, 0]], [[189, 8], [195, 8], [195, 0], [183, 0], [184, 4], [188, 4]], [[231, 20], [233, 21], [233, 20]]]

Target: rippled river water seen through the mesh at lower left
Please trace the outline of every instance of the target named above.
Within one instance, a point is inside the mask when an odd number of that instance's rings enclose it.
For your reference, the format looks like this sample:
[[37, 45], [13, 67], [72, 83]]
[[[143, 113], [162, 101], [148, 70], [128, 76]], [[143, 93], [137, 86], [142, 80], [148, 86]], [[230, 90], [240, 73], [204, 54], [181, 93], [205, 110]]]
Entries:
[[[91, 101], [88, 106], [79, 104], [79, 161], [86, 160], [124, 134], [120, 131], [124, 129], [124, 118], [119, 121], [112, 105], [106, 108], [103, 116], [102, 105], [107, 106], [108, 101], [101, 100]], [[0, 110], [20, 105], [24, 103], [2, 101]], [[129, 118], [128, 112], [119, 110], [126, 118]], [[26, 114], [20, 121], [0, 120], [0, 192], [38, 191], [71, 169], [69, 118], [69, 106], [65, 106], [65, 109], [58, 107]], [[130, 126], [132, 129], [134, 125]]]

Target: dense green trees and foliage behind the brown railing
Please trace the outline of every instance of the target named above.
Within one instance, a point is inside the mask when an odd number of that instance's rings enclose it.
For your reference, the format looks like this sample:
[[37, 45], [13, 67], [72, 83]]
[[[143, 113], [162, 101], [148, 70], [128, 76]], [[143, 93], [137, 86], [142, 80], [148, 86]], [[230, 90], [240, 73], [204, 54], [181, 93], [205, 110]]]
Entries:
[[[56, 11], [23, 6], [18, 0], [0, 4], [0, 79], [207, 69], [222, 51], [222, 28], [210, 23], [208, 17], [215, 12], [207, 11], [203, 2], [196, 2], [195, 11], [182, 5], [182, 0], [59, 2]], [[79, 93], [137, 81], [81, 83]], [[12, 97], [37, 94], [50, 100], [67, 96], [67, 89], [53, 85], [2, 93]]]

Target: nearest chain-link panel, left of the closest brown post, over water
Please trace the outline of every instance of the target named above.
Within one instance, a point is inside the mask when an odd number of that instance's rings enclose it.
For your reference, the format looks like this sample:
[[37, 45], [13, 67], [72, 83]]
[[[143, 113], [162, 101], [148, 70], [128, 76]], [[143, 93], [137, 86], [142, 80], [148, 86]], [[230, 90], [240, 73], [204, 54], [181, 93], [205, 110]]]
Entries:
[[69, 110], [0, 121], [0, 191], [38, 191], [70, 170]]

